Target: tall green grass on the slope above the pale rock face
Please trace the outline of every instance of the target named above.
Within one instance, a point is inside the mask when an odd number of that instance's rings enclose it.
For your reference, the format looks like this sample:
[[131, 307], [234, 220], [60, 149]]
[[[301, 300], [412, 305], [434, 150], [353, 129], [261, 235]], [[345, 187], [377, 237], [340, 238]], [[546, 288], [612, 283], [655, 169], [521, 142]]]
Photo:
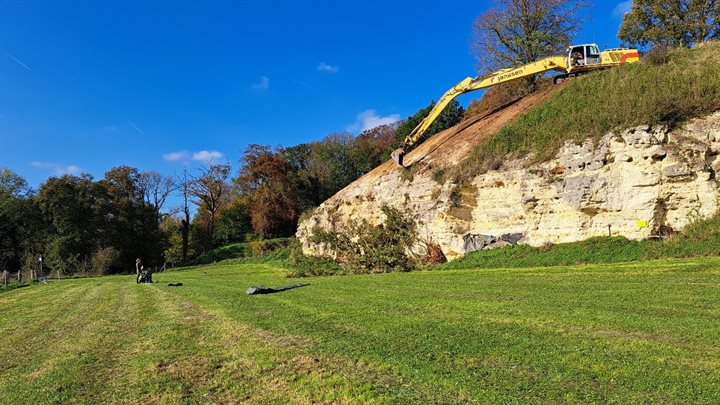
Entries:
[[570, 81], [480, 143], [460, 172], [481, 173], [508, 157], [529, 155], [537, 163], [552, 158], [567, 141], [644, 124], [673, 127], [718, 109], [720, 43], [658, 50], [641, 63]]

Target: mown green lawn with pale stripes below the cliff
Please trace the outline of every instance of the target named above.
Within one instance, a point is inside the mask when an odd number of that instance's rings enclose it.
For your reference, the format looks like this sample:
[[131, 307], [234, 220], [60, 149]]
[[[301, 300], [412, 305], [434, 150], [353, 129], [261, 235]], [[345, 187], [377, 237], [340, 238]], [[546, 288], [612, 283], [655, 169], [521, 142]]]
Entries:
[[[0, 294], [0, 403], [720, 398], [720, 259], [303, 279], [272, 264]], [[183, 287], [167, 287], [171, 281]]]

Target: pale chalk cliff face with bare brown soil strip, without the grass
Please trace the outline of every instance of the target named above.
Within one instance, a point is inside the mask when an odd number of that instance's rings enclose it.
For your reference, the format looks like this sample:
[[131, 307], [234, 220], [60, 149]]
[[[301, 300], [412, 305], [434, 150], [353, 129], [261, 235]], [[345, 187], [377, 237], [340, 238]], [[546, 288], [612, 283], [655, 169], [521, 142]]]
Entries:
[[504, 162], [463, 185], [439, 180], [438, 170], [462, 161], [497, 121], [502, 117], [451, 128], [408, 156], [412, 169], [388, 162], [340, 191], [300, 224], [305, 253], [328, 253], [309, 241], [314, 227], [342, 231], [353, 219], [378, 224], [385, 204], [411, 216], [421, 239], [450, 260], [509, 243], [657, 237], [718, 209], [720, 112], [671, 132], [640, 126], [568, 143], [551, 161]]

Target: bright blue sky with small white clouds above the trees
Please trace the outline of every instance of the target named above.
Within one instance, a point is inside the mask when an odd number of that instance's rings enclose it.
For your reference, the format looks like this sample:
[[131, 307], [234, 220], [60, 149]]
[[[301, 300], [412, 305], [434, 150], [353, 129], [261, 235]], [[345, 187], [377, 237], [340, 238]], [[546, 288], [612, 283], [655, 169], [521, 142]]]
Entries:
[[[250, 143], [398, 120], [475, 74], [472, 22], [490, 5], [0, 0], [0, 166], [34, 187], [117, 165], [237, 167]], [[630, 5], [596, 1], [577, 42], [618, 45]]]

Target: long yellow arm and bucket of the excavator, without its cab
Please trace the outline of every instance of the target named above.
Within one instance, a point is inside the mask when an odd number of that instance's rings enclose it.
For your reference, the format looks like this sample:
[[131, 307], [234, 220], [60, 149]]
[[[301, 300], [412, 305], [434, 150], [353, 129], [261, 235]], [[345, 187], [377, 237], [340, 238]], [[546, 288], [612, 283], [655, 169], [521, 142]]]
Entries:
[[414, 145], [415, 142], [417, 142], [417, 140], [425, 134], [427, 129], [430, 128], [430, 125], [432, 125], [437, 117], [440, 116], [445, 107], [447, 107], [447, 105], [450, 104], [450, 102], [457, 96], [551, 70], [567, 73], [570, 70], [567, 58], [564, 56], [551, 56], [537, 62], [528, 63], [524, 66], [498, 70], [497, 72], [493, 72], [485, 76], [465, 78], [465, 80], [453, 86], [450, 90], [446, 91], [442, 97], [440, 97], [432, 110], [430, 110], [428, 116], [425, 117], [425, 119], [423, 119], [420, 124], [418, 124], [418, 126], [415, 127], [410, 134], [408, 134], [407, 137], [405, 137], [402, 146], [392, 153], [391, 156], [393, 160], [395, 160], [398, 165], [402, 166], [403, 156], [406, 153], [406, 149]]

